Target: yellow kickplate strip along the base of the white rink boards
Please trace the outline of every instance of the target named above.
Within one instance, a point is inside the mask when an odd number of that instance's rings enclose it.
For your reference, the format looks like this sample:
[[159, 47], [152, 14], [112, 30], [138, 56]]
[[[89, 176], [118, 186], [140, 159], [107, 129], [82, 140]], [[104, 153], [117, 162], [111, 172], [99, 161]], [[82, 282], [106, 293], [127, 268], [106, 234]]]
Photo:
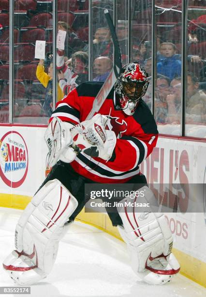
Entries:
[[[15, 195], [15, 194], [0, 194], [0, 207], [9, 207], [15, 209], [25, 209], [31, 197]], [[112, 223], [107, 214], [103, 213], [87, 213], [83, 209], [76, 217], [77, 221], [91, 225], [102, 230], [115, 238], [123, 241], [117, 227], [112, 226]], [[177, 257], [181, 266], [180, 273], [191, 281], [206, 287], [206, 263], [192, 256], [173, 248], [173, 253]]]

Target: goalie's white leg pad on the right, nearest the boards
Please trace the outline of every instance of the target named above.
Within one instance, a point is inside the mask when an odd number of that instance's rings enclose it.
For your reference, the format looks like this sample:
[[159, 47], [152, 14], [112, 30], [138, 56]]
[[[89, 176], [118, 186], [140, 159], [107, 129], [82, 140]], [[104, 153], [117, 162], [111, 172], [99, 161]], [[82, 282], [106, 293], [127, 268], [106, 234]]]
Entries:
[[150, 207], [143, 213], [136, 206], [136, 203], [155, 205], [156, 202], [147, 186], [138, 191], [144, 191], [144, 197], [127, 197], [120, 201], [123, 206], [119, 203], [117, 209], [124, 227], [118, 226], [118, 231], [127, 243], [134, 272], [147, 283], [163, 284], [180, 269], [171, 253], [172, 233], [162, 213], [153, 213]]

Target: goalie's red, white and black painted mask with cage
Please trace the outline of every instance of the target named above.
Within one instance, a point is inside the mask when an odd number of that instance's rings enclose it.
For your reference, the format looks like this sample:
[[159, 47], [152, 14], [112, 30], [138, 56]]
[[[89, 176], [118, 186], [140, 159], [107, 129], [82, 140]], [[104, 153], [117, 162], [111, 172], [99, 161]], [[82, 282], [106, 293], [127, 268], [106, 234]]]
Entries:
[[120, 108], [126, 115], [133, 115], [140, 99], [145, 95], [149, 82], [145, 69], [137, 62], [126, 64], [115, 83]]

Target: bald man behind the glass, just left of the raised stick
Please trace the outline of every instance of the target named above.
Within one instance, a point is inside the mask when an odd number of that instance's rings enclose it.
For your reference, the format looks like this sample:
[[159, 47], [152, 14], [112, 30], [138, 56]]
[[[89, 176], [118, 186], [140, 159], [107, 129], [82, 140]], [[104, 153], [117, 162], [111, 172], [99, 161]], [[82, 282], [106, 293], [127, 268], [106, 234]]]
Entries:
[[93, 72], [96, 75], [93, 82], [105, 82], [112, 69], [112, 61], [108, 57], [98, 57], [94, 60]]

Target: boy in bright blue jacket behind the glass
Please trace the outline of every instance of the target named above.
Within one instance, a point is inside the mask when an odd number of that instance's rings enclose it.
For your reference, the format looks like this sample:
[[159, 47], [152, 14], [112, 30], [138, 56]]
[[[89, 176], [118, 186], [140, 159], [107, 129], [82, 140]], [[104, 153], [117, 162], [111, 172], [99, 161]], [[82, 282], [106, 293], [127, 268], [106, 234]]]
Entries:
[[181, 75], [181, 61], [174, 57], [176, 46], [170, 42], [163, 42], [160, 52], [164, 56], [162, 62], [157, 63], [157, 73], [169, 77], [170, 80]]

